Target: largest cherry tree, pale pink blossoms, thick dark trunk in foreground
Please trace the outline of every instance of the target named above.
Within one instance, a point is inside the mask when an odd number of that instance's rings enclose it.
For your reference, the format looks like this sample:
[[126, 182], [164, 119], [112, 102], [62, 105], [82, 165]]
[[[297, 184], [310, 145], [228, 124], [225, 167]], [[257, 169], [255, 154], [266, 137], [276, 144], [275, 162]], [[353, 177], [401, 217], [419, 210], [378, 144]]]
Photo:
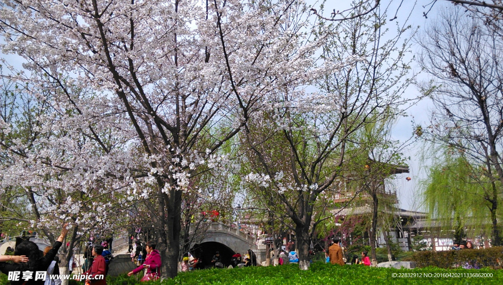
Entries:
[[[19, 160], [9, 181], [140, 199], [162, 275], [175, 276], [191, 178], [227, 165], [222, 146], [256, 112], [340, 64], [313, 66], [325, 39], [310, 37], [307, 10], [293, 0], [6, 1], [3, 52], [27, 60], [30, 84], [49, 85], [59, 111], [42, 123], [57, 139], [28, 156], [7, 148]], [[78, 212], [72, 200], [59, 207]]]

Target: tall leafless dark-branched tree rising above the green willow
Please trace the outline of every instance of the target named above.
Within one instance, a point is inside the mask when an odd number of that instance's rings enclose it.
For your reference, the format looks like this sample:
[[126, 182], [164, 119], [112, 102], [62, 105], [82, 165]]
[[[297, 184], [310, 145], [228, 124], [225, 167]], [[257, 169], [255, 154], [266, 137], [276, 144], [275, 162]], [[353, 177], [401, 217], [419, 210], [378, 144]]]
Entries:
[[423, 91], [435, 105], [422, 137], [483, 167], [482, 174], [497, 188], [496, 196], [487, 197], [496, 210], [503, 183], [503, 38], [466, 13], [443, 11], [419, 40], [420, 64], [432, 79]]

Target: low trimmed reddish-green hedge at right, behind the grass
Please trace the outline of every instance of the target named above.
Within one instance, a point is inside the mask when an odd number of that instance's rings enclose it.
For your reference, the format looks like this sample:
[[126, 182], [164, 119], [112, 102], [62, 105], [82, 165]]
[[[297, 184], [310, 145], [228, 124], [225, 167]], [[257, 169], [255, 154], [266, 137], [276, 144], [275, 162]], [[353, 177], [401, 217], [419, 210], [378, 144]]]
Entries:
[[415, 261], [417, 267], [435, 266], [440, 268], [458, 268], [478, 266], [501, 269], [501, 261], [503, 261], [503, 247], [437, 252], [418, 251], [404, 260]]

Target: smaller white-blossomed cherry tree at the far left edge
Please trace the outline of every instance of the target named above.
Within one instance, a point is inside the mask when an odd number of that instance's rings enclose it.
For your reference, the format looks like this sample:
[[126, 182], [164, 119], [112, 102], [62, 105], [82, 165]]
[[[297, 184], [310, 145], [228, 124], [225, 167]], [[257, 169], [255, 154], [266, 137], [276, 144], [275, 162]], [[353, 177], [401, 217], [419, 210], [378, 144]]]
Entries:
[[[36, 227], [51, 243], [55, 241], [55, 226], [61, 221], [71, 222], [73, 227], [61, 258], [66, 272], [74, 247], [88, 232], [111, 229], [110, 221], [123, 216], [128, 200], [122, 193], [116, 195], [116, 190], [128, 182], [109, 175], [123, 164], [97, 154], [103, 147], [110, 153], [122, 152], [127, 141], [111, 135], [111, 129], [100, 127], [103, 121], [90, 122], [84, 109], [60, 100], [60, 96], [82, 100], [93, 97], [92, 93], [70, 90], [63, 83], [55, 88], [56, 82], [46, 79], [39, 78], [43, 84], [32, 85], [37, 82], [35, 77], [23, 80], [20, 74], [2, 75], [4, 83], [11, 82], [11, 88], [6, 93], [9, 100], [2, 102], [2, 109], [10, 111], [2, 114], [0, 191], [8, 193], [7, 198], [17, 195], [13, 200], [3, 199], [8, 205], [3, 219]], [[19, 81], [8, 79], [13, 77]], [[88, 124], [81, 125], [83, 121]], [[89, 164], [84, 167], [83, 162]], [[24, 206], [18, 210], [16, 203], [20, 202]]]

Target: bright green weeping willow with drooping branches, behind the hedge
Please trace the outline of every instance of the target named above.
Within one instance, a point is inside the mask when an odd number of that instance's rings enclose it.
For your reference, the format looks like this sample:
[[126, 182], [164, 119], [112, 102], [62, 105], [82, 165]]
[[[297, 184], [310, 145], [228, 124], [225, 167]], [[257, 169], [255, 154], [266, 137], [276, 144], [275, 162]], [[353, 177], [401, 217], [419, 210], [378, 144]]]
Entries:
[[501, 184], [494, 181], [485, 166], [474, 165], [459, 154], [447, 151], [422, 182], [424, 197], [432, 218], [444, 229], [453, 230], [454, 238], [469, 229], [472, 235], [491, 236], [492, 245], [500, 245], [502, 212], [499, 191]]

